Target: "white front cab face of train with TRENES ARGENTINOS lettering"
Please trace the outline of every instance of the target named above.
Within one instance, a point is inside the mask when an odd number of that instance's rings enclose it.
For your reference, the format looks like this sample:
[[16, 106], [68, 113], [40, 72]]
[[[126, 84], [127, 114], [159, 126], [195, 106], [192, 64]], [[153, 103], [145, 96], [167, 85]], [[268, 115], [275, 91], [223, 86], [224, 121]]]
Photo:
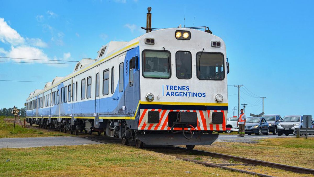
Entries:
[[[176, 31], [189, 31], [190, 39], [177, 39]], [[154, 39], [154, 44], [145, 43], [148, 38]], [[212, 47], [212, 41], [219, 42], [219, 47]], [[204, 31], [173, 28], [143, 35], [139, 48], [137, 143], [189, 147], [212, 144], [218, 138], [213, 132], [226, 129], [223, 40]]]

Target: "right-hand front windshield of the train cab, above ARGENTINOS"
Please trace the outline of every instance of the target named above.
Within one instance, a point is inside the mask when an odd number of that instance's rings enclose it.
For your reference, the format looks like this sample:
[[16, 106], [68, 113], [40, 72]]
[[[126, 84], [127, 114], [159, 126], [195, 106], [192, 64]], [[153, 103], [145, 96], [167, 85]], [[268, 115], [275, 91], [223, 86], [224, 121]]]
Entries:
[[224, 56], [221, 53], [198, 52], [196, 54], [196, 76], [200, 80], [223, 80], [224, 66]]

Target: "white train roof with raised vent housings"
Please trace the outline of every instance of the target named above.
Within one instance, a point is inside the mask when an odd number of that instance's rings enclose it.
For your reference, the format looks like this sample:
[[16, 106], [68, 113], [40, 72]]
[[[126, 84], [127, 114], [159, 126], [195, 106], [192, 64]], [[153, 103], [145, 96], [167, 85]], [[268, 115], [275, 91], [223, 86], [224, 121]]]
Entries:
[[[190, 29], [190, 28], [165, 28], [165, 29], [159, 29], [156, 31], [151, 31], [149, 33], [145, 33], [139, 37], [136, 37], [134, 39], [132, 39], [129, 42], [120, 42], [120, 41], [110, 41], [109, 43], [101, 46], [101, 48], [99, 49], [99, 51], [97, 51], [98, 55], [95, 59], [91, 59], [91, 58], [83, 58], [82, 60], [78, 61], [77, 64], [75, 65], [73, 72], [70, 73], [69, 75], [65, 76], [65, 77], [55, 77], [52, 82], [47, 82], [44, 89], [34, 92], [34, 94], [30, 94], [30, 96], [26, 99], [29, 100], [33, 97], [35, 97], [37, 94], [42, 94], [44, 93], [46, 90], [53, 88], [55, 85], [59, 85], [60, 83], [62, 83], [63, 81], [74, 77], [76, 75], [78, 75], [79, 73], [86, 71], [87, 69], [95, 66], [96, 64], [100, 64], [102, 62], [104, 62], [107, 59], [110, 59], [124, 51], [127, 51], [129, 49], [135, 48], [139, 45], [139, 42], [141, 40], [142, 37], [146, 37], [146, 36], [151, 36], [151, 34], [156, 34], [156, 33], [164, 33], [165, 31], [173, 31], [173, 30], [188, 30], [188, 31], [199, 31], [199, 32], [204, 32], [201, 30], [197, 30], [197, 29]], [[211, 33], [208, 32], [204, 32], [207, 33], [209, 35], [213, 35]], [[215, 35], [213, 35], [216, 38], [219, 38]], [[223, 40], [221, 38], [219, 38], [219, 40], [223, 43]], [[36, 89], [38, 90], [38, 89]]]

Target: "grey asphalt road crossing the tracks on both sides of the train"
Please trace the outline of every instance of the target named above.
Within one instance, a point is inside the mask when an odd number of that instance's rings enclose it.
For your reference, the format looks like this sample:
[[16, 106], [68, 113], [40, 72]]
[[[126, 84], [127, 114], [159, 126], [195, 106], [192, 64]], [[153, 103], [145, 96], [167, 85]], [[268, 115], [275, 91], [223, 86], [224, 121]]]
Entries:
[[[313, 136], [313, 135], [311, 135]], [[235, 134], [219, 134], [217, 141], [219, 142], [244, 142], [244, 143], [256, 143], [256, 140], [263, 138], [284, 138], [288, 137], [285, 135], [278, 136], [270, 134], [266, 135], [245, 135], [245, 137], [238, 137]], [[289, 135], [293, 138], [295, 136]], [[121, 143], [120, 139], [106, 137], [106, 136], [93, 136], [94, 140], [101, 141], [104, 143]], [[20, 148], [20, 147], [41, 147], [41, 146], [64, 146], [64, 145], [88, 145], [88, 144], [102, 144], [100, 142], [90, 140], [84, 137], [39, 137], [39, 138], [1, 138], [0, 139], [0, 148]], [[130, 144], [134, 144], [130, 142]]]

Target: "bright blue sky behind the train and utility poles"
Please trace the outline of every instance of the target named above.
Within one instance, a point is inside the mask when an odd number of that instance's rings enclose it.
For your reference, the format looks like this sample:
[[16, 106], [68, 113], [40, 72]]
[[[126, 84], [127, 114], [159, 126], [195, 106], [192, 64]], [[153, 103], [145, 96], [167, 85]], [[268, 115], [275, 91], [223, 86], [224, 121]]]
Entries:
[[[313, 110], [313, 1], [0, 1], [0, 56], [50, 60], [95, 58], [109, 41], [129, 41], [152, 27], [208, 26], [227, 46], [229, 114], [309, 114]], [[185, 9], [185, 12], [184, 12]], [[185, 22], [184, 22], [185, 14]], [[0, 59], [0, 61], [16, 61]], [[28, 61], [30, 62], [30, 61]], [[44, 62], [44, 61], [41, 61]], [[74, 65], [0, 62], [0, 80], [48, 82]], [[22, 107], [44, 83], [0, 81], [0, 108]], [[237, 111], [236, 111], [237, 112]]]

